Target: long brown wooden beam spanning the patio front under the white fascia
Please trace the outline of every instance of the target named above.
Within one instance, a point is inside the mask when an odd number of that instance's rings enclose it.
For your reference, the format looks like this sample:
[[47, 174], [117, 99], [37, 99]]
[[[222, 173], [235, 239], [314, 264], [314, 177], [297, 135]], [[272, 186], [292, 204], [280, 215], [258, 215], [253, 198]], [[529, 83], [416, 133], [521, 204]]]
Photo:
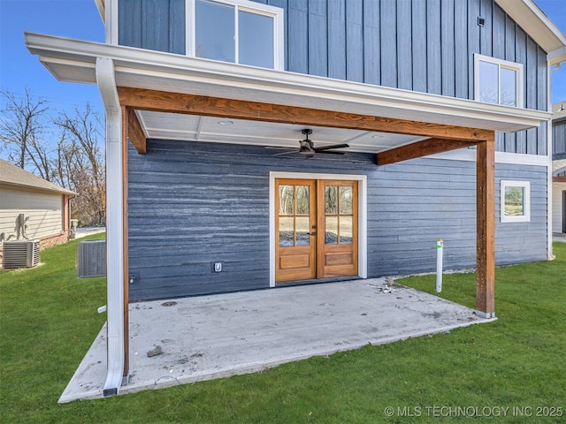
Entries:
[[[348, 128], [380, 133], [410, 134], [451, 140], [486, 140], [488, 130], [439, 125], [407, 119], [372, 117], [332, 110], [319, 110], [262, 102], [186, 95], [142, 88], [118, 87], [120, 104], [135, 110], [227, 117], [295, 125]], [[418, 111], [415, 112], [418, 116]]]

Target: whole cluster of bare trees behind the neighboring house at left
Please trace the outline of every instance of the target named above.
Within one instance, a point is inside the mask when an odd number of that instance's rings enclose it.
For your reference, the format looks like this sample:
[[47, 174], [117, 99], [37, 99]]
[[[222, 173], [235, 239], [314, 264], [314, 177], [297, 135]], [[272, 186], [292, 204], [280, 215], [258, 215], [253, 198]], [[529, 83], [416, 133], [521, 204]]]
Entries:
[[[11, 163], [78, 193], [71, 215], [81, 225], [105, 224], [103, 118], [86, 104], [74, 114], [48, 115], [47, 102], [26, 88], [0, 92], [0, 153]], [[4, 148], [4, 149], [3, 149]]]

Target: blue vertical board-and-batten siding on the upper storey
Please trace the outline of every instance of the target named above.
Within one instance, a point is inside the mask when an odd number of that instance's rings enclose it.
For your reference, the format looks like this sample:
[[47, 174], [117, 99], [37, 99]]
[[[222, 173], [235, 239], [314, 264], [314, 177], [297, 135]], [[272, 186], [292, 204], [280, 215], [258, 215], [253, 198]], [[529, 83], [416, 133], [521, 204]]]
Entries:
[[[286, 71], [473, 100], [479, 53], [523, 64], [523, 106], [547, 110], [547, 52], [493, 0], [256, 3], [284, 10]], [[185, 0], [119, 0], [122, 45], [184, 55], [185, 31]], [[497, 133], [496, 149], [547, 155], [547, 124]]]

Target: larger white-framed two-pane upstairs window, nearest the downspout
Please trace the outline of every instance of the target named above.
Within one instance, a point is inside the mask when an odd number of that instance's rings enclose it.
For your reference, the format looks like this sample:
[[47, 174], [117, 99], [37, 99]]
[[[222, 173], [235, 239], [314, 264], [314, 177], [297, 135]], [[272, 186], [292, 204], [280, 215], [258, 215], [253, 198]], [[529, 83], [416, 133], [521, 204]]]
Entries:
[[247, 0], [187, 0], [187, 55], [283, 69], [283, 10]]

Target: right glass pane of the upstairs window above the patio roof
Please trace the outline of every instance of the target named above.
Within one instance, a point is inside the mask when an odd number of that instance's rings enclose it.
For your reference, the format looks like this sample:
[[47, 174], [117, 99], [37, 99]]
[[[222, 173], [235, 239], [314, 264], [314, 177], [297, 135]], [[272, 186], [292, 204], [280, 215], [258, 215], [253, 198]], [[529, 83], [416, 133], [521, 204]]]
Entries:
[[270, 16], [238, 12], [239, 63], [274, 67], [273, 18]]

